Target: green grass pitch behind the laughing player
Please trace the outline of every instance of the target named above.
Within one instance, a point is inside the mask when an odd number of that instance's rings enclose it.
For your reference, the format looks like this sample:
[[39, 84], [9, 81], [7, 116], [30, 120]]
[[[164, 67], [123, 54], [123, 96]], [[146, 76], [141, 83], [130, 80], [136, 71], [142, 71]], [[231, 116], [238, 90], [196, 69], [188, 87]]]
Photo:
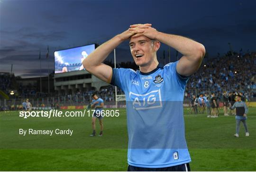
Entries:
[[[104, 118], [102, 137], [89, 137], [91, 117], [27, 118], [0, 112], [0, 171], [127, 171], [126, 110]], [[192, 171], [256, 171], [256, 108], [249, 108], [245, 136], [235, 138], [234, 116], [206, 118], [184, 109]], [[72, 128], [73, 136], [19, 136], [19, 128]], [[99, 133], [99, 124], [96, 121]]]

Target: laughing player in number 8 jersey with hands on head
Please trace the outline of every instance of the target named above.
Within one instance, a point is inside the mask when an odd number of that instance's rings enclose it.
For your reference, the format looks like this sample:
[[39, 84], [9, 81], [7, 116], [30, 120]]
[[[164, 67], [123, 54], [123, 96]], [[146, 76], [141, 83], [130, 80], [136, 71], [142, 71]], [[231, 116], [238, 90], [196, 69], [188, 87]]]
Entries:
[[[83, 61], [88, 72], [125, 92], [128, 127], [128, 171], [190, 171], [184, 119], [185, 85], [198, 70], [205, 54], [202, 44], [165, 34], [151, 24], [131, 25], [100, 45]], [[111, 68], [102, 63], [123, 41], [139, 70]], [[159, 65], [160, 44], [173, 47], [183, 57]]]

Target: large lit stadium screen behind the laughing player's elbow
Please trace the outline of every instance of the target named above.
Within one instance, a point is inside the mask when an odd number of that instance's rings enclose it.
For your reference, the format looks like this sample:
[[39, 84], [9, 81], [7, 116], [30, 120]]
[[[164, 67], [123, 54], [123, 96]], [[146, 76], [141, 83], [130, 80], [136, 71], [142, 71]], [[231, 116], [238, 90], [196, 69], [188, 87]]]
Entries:
[[84, 70], [82, 61], [95, 50], [96, 45], [84, 45], [54, 52], [55, 73]]

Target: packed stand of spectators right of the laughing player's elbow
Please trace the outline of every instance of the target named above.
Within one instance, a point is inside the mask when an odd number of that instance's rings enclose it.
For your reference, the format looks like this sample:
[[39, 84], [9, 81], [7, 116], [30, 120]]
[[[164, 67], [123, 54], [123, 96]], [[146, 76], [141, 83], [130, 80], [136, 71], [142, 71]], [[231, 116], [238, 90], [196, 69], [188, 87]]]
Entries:
[[242, 92], [248, 99], [256, 97], [256, 53], [230, 54], [202, 63], [186, 85], [185, 97], [222, 91]]

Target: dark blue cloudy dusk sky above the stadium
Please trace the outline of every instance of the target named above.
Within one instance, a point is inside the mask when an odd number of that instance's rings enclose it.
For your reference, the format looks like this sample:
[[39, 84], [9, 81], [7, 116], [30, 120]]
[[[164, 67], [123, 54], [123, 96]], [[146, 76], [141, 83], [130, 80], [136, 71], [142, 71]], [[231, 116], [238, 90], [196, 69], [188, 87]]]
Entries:
[[[40, 76], [41, 50], [46, 76], [48, 64], [54, 70], [55, 50], [102, 44], [137, 23], [192, 38], [210, 57], [224, 55], [228, 43], [236, 52], [256, 51], [256, 0], [0, 0], [0, 72], [13, 64], [16, 76]], [[162, 44], [158, 57], [167, 49]], [[127, 41], [116, 55], [118, 62], [132, 61]]]

